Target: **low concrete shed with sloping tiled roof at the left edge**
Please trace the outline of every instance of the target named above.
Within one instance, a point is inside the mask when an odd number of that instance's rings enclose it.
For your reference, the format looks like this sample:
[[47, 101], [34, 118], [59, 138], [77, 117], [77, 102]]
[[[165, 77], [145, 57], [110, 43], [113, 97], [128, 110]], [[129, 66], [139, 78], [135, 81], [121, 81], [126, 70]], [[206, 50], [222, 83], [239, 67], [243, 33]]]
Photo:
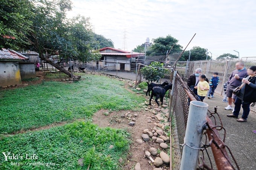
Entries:
[[0, 50], [0, 86], [11, 86], [21, 83], [21, 79], [35, 78], [34, 63], [26, 62], [27, 57], [14, 51]]

